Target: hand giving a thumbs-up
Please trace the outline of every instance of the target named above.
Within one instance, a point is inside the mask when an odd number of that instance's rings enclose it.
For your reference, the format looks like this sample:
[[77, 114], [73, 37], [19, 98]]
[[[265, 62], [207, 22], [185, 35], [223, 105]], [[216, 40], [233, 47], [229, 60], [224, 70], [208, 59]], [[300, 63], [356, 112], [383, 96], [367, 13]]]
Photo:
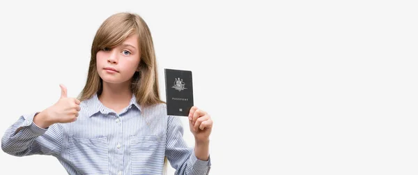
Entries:
[[61, 87], [61, 98], [51, 107], [40, 112], [33, 118], [33, 122], [41, 128], [47, 128], [54, 123], [70, 123], [77, 120], [80, 111], [80, 101], [67, 97], [67, 88]]

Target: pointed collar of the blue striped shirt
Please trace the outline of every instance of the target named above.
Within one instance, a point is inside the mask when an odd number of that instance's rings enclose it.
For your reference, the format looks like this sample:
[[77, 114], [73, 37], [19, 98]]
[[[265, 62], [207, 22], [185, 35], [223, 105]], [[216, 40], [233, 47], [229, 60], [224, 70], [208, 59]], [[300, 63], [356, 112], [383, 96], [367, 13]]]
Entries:
[[[129, 102], [128, 108], [130, 109], [132, 106], [137, 107], [137, 109], [141, 110], [141, 106], [137, 103], [137, 98], [132, 93], [132, 98]], [[87, 115], [88, 117], [93, 116], [94, 114], [100, 112], [102, 114], [109, 114], [112, 112], [111, 109], [108, 107], [105, 107], [102, 102], [100, 102], [98, 98], [98, 94], [95, 93], [91, 98], [86, 100], [86, 106], [87, 107]]]

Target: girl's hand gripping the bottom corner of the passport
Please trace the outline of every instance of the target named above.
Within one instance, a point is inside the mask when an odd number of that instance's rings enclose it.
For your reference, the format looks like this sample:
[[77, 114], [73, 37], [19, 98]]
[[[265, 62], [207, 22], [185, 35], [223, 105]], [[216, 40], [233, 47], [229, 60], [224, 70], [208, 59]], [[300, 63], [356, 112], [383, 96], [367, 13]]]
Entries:
[[189, 127], [196, 142], [207, 142], [212, 131], [212, 119], [208, 112], [192, 107], [189, 112]]

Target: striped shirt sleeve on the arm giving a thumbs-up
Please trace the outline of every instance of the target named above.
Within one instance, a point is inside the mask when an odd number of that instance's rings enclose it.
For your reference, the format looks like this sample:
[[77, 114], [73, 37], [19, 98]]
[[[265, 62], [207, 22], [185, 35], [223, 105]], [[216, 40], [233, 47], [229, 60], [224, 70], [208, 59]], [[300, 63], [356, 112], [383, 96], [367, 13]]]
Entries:
[[25, 155], [53, 155], [61, 152], [62, 128], [54, 124], [49, 128], [39, 128], [33, 123], [38, 113], [27, 114], [13, 123], [1, 139], [1, 149], [5, 153], [22, 157]]

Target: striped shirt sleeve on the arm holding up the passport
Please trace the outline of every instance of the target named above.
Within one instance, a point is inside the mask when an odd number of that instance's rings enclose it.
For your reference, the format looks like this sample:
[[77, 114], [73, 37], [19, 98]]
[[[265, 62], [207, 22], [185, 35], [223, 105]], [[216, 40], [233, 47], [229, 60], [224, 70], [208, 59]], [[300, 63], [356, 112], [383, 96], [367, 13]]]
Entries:
[[183, 126], [180, 119], [169, 116], [167, 128], [166, 155], [176, 174], [206, 175], [210, 170], [210, 157], [207, 161], [199, 160], [194, 149], [187, 147], [183, 139]]

